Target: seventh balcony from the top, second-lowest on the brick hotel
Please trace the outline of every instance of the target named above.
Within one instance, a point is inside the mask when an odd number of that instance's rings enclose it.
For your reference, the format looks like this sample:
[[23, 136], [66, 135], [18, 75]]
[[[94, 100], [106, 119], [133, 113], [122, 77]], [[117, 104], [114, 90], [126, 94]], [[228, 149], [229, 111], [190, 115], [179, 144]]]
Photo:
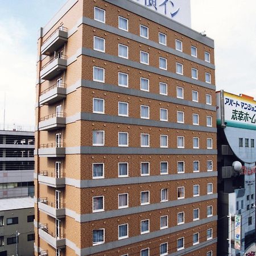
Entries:
[[65, 208], [64, 204], [56, 205], [55, 203], [49, 202], [47, 197], [40, 198], [38, 202], [38, 208], [42, 212], [53, 218], [64, 218]]

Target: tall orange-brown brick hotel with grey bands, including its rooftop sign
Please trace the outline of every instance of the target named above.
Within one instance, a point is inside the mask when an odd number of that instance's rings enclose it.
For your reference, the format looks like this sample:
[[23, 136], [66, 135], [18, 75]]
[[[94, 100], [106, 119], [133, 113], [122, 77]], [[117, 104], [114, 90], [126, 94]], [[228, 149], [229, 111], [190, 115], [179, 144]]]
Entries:
[[214, 43], [189, 9], [69, 0], [40, 29], [36, 255], [216, 255]]

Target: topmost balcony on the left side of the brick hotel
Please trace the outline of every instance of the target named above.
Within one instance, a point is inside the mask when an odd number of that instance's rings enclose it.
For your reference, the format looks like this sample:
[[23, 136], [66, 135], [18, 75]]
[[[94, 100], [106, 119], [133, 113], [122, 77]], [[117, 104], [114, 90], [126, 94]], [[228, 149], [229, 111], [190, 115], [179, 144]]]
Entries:
[[64, 46], [65, 42], [68, 41], [68, 29], [65, 27], [58, 27], [51, 35], [44, 40], [41, 52], [43, 55], [52, 55], [61, 46]]

